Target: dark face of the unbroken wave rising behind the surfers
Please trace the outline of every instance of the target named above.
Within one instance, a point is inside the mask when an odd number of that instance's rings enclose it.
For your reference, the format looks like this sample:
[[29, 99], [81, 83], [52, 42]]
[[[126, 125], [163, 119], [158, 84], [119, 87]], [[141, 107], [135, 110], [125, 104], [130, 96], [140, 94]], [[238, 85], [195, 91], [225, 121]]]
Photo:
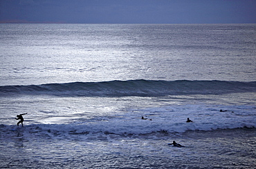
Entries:
[[0, 86], [0, 95], [55, 95], [84, 97], [161, 97], [168, 95], [221, 95], [256, 92], [256, 81], [102, 81]]

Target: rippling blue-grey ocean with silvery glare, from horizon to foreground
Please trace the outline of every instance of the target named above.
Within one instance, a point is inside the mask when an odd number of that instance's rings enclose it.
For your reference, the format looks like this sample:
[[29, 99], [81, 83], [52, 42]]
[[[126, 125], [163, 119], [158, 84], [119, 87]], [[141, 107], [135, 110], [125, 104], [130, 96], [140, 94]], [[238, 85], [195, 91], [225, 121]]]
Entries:
[[0, 30], [0, 168], [256, 168], [256, 24]]

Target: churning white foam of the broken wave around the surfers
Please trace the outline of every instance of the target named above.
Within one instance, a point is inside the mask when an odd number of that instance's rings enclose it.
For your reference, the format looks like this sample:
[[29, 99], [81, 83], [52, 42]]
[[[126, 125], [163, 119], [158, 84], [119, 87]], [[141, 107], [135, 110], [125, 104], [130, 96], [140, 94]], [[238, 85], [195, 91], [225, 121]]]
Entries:
[[[186, 105], [165, 106], [161, 108], [146, 108], [131, 110], [122, 116], [91, 119], [90, 121], [73, 121], [73, 123], [55, 123], [64, 121], [67, 117], [51, 117], [44, 124], [30, 124], [19, 130], [28, 135], [47, 135], [49, 137], [66, 137], [70, 135], [88, 135], [99, 133], [114, 135], [141, 135], [152, 132], [185, 132], [187, 130], [216, 130], [228, 128], [256, 128], [253, 106], [230, 106], [220, 109], [236, 109], [219, 112], [219, 106]], [[143, 120], [141, 116], [150, 120]], [[190, 117], [194, 123], [186, 123]], [[55, 123], [55, 124], [53, 124]], [[1, 126], [3, 130], [12, 133], [14, 126]], [[24, 130], [25, 129], [25, 130]], [[5, 134], [3, 134], [5, 135]]]

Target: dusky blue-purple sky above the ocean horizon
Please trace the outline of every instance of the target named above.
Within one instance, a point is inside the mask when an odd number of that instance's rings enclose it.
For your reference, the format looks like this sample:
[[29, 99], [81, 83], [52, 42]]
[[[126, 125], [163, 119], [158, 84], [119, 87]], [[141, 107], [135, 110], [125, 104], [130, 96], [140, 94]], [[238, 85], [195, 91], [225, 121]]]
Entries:
[[0, 0], [0, 23], [256, 23], [256, 0]]

